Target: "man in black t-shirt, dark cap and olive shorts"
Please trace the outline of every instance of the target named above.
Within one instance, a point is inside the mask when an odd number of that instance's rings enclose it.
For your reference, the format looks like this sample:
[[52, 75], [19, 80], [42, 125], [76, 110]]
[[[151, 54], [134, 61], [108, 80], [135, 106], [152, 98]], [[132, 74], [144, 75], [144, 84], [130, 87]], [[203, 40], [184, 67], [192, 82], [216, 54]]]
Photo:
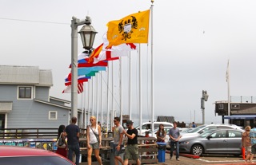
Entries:
[[141, 162], [138, 158], [138, 130], [133, 126], [134, 122], [132, 120], [127, 120], [126, 126], [128, 128], [127, 132], [123, 130], [123, 133], [127, 136], [127, 146], [125, 149], [125, 161], [124, 164], [128, 164], [129, 159], [134, 159], [137, 165]]

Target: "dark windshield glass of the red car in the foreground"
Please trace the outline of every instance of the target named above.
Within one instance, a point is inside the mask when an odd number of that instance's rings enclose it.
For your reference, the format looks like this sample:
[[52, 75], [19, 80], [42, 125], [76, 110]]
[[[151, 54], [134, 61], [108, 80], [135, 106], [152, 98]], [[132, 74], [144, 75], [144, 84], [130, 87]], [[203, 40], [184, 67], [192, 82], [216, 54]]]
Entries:
[[1, 157], [1, 164], [8, 165], [72, 165], [72, 163], [58, 156], [21, 156], [21, 157]]

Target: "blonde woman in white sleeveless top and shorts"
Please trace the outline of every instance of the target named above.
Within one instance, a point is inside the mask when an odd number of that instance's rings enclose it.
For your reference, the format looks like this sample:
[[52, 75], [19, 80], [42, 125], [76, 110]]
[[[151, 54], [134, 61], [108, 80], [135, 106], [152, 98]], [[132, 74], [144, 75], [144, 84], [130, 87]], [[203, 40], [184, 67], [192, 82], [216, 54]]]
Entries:
[[94, 150], [94, 155], [98, 163], [102, 165], [102, 158], [99, 156], [99, 148], [102, 147], [102, 130], [101, 126], [97, 124], [96, 117], [90, 117], [90, 125], [86, 129], [87, 139], [87, 162], [91, 165], [91, 155]]

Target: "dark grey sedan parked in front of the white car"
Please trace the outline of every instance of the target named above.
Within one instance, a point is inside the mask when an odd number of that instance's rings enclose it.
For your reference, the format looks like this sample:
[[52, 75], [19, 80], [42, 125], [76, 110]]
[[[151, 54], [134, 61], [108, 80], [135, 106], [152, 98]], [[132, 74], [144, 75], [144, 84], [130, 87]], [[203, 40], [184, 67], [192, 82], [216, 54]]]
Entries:
[[179, 151], [193, 155], [242, 154], [242, 132], [238, 129], [211, 129], [198, 137], [185, 137], [179, 141]]

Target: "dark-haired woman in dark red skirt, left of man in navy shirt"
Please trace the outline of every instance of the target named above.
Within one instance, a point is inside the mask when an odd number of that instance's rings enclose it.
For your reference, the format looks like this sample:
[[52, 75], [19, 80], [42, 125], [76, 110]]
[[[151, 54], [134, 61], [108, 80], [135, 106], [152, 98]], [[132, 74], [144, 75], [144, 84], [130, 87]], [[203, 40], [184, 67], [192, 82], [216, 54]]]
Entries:
[[60, 125], [58, 127], [58, 138], [57, 138], [57, 151], [56, 153], [59, 155], [62, 155], [66, 158], [67, 155], [67, 144], [66, 144], [66, 132], [64, 132], [65, 130], [65, 125]]

